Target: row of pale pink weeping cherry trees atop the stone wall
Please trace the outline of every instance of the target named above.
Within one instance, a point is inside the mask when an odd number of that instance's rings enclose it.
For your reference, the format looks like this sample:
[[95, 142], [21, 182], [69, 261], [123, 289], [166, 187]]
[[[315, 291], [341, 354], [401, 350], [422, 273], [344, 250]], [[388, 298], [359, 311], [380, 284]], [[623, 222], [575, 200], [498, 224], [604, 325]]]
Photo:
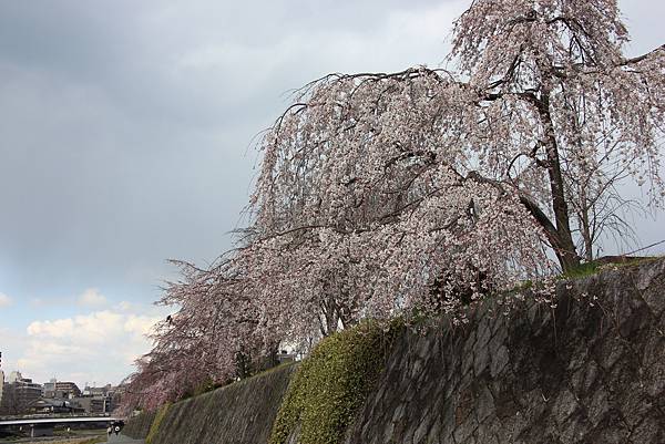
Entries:
[[593, 259], [628, 228], [617, 186], [664, 196], [665, 49], [627, 59], [627, 40], [614, 0], [475, 0], [453, 71], [305, 86], [260, 143], [241, 247], [180, 264], [127, 400], [156, 406], [364, 318], [463, 321], [490, 291]]

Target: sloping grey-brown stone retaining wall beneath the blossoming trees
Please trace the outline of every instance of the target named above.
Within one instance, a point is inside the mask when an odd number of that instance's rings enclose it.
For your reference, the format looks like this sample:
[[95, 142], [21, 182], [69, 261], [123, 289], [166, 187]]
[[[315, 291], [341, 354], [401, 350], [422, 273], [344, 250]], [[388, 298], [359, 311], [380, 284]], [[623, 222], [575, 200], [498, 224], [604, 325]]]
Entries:
[[[406, 332], [346, 444], [663, 444], [664, 290], [661, 259], [562, 282], [554, 309]], [[291, 372], [174, 404], [154, 443], [266, 443]]]

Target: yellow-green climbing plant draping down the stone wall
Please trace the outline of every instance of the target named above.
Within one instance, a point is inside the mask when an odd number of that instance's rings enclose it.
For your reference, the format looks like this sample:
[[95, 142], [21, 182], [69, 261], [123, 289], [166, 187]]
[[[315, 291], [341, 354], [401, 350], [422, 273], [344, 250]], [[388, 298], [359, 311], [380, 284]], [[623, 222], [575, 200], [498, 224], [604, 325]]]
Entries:
[[401, 328], [366, 321], [320, 341], [296, 370], [269, 443], [285, 444], [298, 426], [300, 444], [341, 442]]

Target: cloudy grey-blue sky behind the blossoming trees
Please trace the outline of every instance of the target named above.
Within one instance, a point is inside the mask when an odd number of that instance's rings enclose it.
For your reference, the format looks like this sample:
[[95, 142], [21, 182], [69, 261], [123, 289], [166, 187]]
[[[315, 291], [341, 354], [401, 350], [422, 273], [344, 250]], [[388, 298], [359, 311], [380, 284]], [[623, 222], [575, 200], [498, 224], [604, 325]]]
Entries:
[[[469, 4], [0, 1], [2, 369], [120, 382], [168, 312], [153, 304], [177, 278], [166, 259], [205, 265], [232, 246], [255, 136], [289, 92], [439, 66]], [[620, 4], [628, 54], [665, 43], [665, 2]], [[637, 217], [640, 244], [664, 221]]]

